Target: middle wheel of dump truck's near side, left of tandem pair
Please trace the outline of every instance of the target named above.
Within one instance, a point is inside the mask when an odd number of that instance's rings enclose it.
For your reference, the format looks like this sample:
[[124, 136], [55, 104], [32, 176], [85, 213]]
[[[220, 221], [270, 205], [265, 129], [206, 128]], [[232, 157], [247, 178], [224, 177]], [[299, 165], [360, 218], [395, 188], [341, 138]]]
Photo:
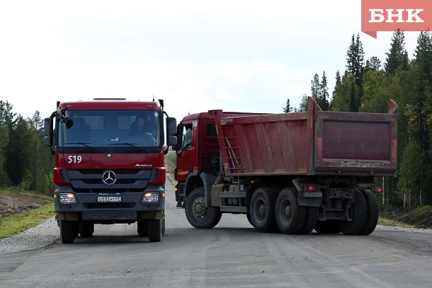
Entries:
[[275, 223], [276, 192], [271, 188], [258, 188], [251, 197], [249, 214], [256, 231], [277, 231]]

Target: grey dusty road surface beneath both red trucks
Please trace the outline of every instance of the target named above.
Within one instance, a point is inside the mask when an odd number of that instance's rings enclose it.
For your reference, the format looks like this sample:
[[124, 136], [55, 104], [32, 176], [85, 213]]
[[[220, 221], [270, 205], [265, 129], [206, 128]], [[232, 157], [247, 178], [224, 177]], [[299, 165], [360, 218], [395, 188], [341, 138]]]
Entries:
[[166, 235], [96, 225], [92, 238], [0, 255], [0, 287], [431, 287], [432, 233], [262, 234], [244, 215], [194, 229], [166, 185]]

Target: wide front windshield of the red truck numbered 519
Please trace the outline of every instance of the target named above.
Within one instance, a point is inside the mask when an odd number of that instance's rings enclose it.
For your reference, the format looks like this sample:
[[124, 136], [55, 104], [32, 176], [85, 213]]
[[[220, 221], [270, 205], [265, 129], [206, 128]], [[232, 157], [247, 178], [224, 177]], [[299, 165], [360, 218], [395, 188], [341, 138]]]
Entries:
[[67, 110], [68, 120], [58, 125], [62, 147], [161, 146], [157, 110]]

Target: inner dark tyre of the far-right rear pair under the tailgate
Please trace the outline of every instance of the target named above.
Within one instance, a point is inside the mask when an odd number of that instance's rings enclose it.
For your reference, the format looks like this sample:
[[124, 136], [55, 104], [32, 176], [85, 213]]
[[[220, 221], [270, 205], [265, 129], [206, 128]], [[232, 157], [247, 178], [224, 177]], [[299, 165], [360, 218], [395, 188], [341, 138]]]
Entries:
[[348, 215], [352, 221], [342, 221], [340, 224], [341, 232], [346, 235], [359, 235], [362, 233], [366, 225], [367, 207], [365, 197], [359, 190], [355, 191], [354, 202], [351, 203], [351, 208]]

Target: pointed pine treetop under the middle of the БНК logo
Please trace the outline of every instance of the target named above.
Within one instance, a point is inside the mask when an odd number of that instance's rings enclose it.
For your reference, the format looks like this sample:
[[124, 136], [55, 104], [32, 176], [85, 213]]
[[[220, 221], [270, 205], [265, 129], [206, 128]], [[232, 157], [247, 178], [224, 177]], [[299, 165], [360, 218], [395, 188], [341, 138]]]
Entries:
[[387, 58], [385, 59], [385, 71], [388, 74], [394, 74], [397, 69], [407, 70], [408, 69], [408, 52], [405, 50], [405, 35], [404, 31], [397, 30], [393, 33], [392, 44], [390, 45], [390, 52], [385, 53]]

